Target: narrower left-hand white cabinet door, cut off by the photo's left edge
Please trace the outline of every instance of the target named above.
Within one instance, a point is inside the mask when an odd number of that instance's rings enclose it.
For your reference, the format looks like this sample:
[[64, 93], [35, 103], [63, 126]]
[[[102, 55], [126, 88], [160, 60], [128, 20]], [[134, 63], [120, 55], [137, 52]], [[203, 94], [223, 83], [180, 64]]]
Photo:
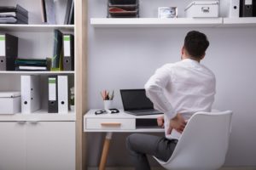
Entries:
[[0, 169], [26, 170], [25, 122], [0, 122]]

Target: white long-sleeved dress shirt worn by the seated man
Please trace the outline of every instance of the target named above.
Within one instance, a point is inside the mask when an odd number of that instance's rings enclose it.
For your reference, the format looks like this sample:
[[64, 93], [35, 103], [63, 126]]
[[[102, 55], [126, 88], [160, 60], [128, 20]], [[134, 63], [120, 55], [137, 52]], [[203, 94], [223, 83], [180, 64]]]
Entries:
[[180, 133], [167, 134], [170, 120], [180, 113], [189, 120], [197, 111], [211, 111], [215, 94], [215, 76], [193, 59], [166, 64], [155, 71], [145, 84], [146, 95], [154, 108], [165, 116], [167, 139], [179, 139]]

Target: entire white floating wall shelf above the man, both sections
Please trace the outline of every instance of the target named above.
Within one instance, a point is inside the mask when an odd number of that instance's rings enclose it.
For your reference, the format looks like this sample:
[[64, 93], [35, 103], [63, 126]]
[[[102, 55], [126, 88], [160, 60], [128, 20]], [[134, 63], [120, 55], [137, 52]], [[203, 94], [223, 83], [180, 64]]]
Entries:
[[90, 25], [94, 27], [227, 27], [256, 26], [256, 17], [247, 18], [91, 18]]

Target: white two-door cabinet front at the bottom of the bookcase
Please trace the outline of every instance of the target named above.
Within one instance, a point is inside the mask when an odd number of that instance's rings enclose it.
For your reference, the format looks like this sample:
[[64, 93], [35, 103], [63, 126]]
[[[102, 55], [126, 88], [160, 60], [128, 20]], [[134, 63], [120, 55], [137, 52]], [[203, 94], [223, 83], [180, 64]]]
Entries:
[[0, 122], [0, 169], [75, 169], [75, 122]]

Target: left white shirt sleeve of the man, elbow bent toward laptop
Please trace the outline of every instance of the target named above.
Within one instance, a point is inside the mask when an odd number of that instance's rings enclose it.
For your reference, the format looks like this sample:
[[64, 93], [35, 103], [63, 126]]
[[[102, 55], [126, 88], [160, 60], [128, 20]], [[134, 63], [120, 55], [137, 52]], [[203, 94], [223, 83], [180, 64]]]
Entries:
[[153, 102], [154, 108], [162, 111], [168, 119], [172, 119], [177, 115], [173, 111], [172, 104], [166, 99], [166, 95], [164, 94], [164, 88], [170, 82], [170, 78], [170, 69], [167, 69], [164, 65], [155, 71], [154, 75], [149, 78], [144, 86], [146, 95]]

